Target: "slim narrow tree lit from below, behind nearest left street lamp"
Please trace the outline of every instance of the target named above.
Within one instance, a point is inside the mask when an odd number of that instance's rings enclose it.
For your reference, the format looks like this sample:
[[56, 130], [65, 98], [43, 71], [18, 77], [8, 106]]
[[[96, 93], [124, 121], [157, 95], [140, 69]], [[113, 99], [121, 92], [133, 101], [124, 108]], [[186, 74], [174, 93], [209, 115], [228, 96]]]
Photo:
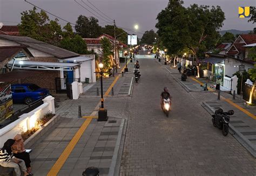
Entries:
[[103, 53], [102, 62], [104, 65], [104, 69], [107, 70], [110, 68], [110, 55], [113, 54], [111, 52], [112, 46], [109, 39], [107, 39], [106, 37], [100, 40], [100, 44], [102, 44], [102, 53]]

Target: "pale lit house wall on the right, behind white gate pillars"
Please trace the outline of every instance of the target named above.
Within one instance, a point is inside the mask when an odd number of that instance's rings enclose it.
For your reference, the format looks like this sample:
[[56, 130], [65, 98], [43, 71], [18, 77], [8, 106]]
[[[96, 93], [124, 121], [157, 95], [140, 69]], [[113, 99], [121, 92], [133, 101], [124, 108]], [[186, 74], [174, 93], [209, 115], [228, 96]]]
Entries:
[[[239, 65], [241, 65], [241, 62], [239, 60], [235, 59], [225, 59], [225, 73], [224, 75], [228, 75], [230, 77], [233, 76], [233, 74], [237, 71], [239, 71]], [[245, 70], [248, 72], [248, 68], [253, 68], [253, 64], [247, 64], [242, 63], [242, 65], [245, 65]]]

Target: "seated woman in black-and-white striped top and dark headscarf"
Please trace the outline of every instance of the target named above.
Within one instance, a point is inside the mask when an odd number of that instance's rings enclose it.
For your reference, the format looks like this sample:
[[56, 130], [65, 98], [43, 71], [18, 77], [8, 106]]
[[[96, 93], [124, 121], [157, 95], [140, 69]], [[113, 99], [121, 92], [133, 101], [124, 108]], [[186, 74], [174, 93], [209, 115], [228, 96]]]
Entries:
[[[14, 167], [14, 171], [17, 176], [21, 175], [21, 170], [24, 172], [24, 175], [31, 175], [26, 172], [26, 165], [22, 159], [18, 159], [14, 156], [14, 153], [11, 151], [11, 146], [14, 145], [14, 139], [8, 139], [4, 143], [4, 146], [0, 150], [0, 165], [3, 167]], [[19, 170], [21, 167], [21, 170]]]

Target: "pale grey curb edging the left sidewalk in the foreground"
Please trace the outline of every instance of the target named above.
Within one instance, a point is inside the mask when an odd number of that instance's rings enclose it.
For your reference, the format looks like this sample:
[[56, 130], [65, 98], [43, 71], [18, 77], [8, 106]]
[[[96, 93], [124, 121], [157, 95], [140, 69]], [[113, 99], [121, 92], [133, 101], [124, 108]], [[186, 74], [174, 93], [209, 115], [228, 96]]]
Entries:
[[125, 119], [122, 119], [122, 122], [120, 124], [120, 129], [118, 131], [116, 146], [114, 146], [114, 153], [113, 153], [113, 157], [112, 157], [112, 162], [111, 162], [111, 165], [110, 165], [110, 168], [109, 168], [109, 176], [114, 176], [114, 171], [116, 169], [117, 159], [118, 159], [117, 158], [118, 157], [118, 151], [119, 151], [119, 147], [120, 147], [120, 143], [121, 143], [121, 139], [122, 139], [124, 122], [125, 122]]

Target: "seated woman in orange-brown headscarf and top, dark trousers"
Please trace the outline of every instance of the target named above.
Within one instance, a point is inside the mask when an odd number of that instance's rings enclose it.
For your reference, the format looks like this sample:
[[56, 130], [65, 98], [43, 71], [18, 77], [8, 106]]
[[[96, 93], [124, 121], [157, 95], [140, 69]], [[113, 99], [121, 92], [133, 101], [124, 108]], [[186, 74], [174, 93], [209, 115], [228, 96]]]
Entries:
[[24, 148], [24, 142], [22, 139], [21, 134], [17, 134], [14, 137], [15, 143], [14, 145], [11, 146], [11, 150], [14, 153], [14, 156], [16, 158], [22, 159], [25, 161], [25, 165], [27, 168], [27, 172], [30, 173], [31, 172], [31, 166], [30, 166], [30, 157], [29, 157], [29, 153], [25, 151]]

